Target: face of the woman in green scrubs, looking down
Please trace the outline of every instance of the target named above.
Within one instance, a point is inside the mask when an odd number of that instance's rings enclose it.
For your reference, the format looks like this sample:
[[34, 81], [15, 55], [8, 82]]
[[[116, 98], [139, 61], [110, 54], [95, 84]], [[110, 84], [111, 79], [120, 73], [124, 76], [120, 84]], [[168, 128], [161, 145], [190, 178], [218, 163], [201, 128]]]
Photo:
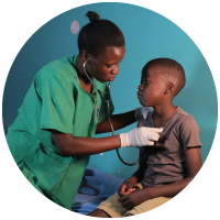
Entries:
[[123, 59], [125, 46], [108, 46], [103, 53], [94, 57], [89, 55], [86, 70], [100, 82], [113, 81], [119, 73], [119, 63]]

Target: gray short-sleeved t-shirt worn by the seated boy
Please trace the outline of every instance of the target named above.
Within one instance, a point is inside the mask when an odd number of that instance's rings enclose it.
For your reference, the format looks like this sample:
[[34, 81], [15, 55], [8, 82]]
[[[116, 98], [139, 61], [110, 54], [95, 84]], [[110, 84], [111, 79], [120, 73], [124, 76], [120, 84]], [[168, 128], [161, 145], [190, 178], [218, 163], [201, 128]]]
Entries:
[[[153, 113], [139, 121], [138, 127], [151, 127]], [[185, 151], [193, 146], [201, 146], [200, 129], [193, 116], [179, 107], [164, 127], [158, 142], [154, 146], [144, 146], [147, 154], [147, 168], [142, 179], [144, 188], [173, 184], [188, 176]]]

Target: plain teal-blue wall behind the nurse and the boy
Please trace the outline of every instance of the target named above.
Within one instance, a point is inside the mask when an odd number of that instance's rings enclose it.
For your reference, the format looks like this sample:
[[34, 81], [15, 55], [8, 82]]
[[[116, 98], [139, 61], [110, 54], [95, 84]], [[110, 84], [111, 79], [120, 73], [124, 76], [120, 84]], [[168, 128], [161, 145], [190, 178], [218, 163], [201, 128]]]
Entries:
[[[87, 11], [96, 11], [100, 19], [114, 22], [125, 36], [127, 53], [119, 67], [119, 75], [111, 85], [114, 113], [133, 110], [140, 106], [136, 98], [142, 67], [152, 58], [169, 57], [179, 62], [186, 72], [187, 84], [174, 103], [193, 114], [201, 130], [202, 163], [209, 156], [218, 124], [216, 84], [208, 62], [194, 40], [177, 24], [161, 13], [123, 2], [89, 3], [70, 9], [40, 26], [24, 43], [12, 62], [6, 80], [2, 100], [4, 132], [18, 116], [22, 100], [35, 74], [53, 59], [78, 54], [78, 34], [70, 32], [74, 20], [80, 28], [89, 22]], [[112, 13], [113, 11], [113, 13]], [[116, 133], [135, 128], [132, 124]], [[100, 136], [111, 133], [100, 134]], [[138, 158], [139, 150], [120, 150], [128, 162]], [[89, 165], [116, 176], [128, 178], [138, 168], [122, 164], [116, 151], [92, 155]]]

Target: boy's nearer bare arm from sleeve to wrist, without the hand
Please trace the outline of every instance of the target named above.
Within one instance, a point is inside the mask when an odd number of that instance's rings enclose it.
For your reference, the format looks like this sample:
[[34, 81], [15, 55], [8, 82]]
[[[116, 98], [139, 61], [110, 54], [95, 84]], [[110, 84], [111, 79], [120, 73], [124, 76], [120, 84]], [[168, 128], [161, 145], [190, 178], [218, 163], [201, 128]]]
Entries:
[[202, 168], [200, 148], [188, 148], [185, 152], [185, 160], [188, 170], [187, 178], [166, 186], [146, 188], [145, 193], [143, 191], [145, 197], [147, 199], [156, 197], [176, 197], [178, 194], [180, 194], [194, 180], [194, 178]]

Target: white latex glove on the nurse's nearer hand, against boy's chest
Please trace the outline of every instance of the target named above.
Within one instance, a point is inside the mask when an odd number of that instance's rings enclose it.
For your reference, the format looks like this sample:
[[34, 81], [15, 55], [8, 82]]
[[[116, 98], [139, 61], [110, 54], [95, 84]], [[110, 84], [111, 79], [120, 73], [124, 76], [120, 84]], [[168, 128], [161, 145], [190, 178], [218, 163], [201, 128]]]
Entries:
[[120, 134], [121, 148], [127, 146], [135, 146], [138, 148], [145, 145], [154, 145], [153, 141], [158, 141], [163, 129], [141, 127], [131, 130], [128, 133]]

